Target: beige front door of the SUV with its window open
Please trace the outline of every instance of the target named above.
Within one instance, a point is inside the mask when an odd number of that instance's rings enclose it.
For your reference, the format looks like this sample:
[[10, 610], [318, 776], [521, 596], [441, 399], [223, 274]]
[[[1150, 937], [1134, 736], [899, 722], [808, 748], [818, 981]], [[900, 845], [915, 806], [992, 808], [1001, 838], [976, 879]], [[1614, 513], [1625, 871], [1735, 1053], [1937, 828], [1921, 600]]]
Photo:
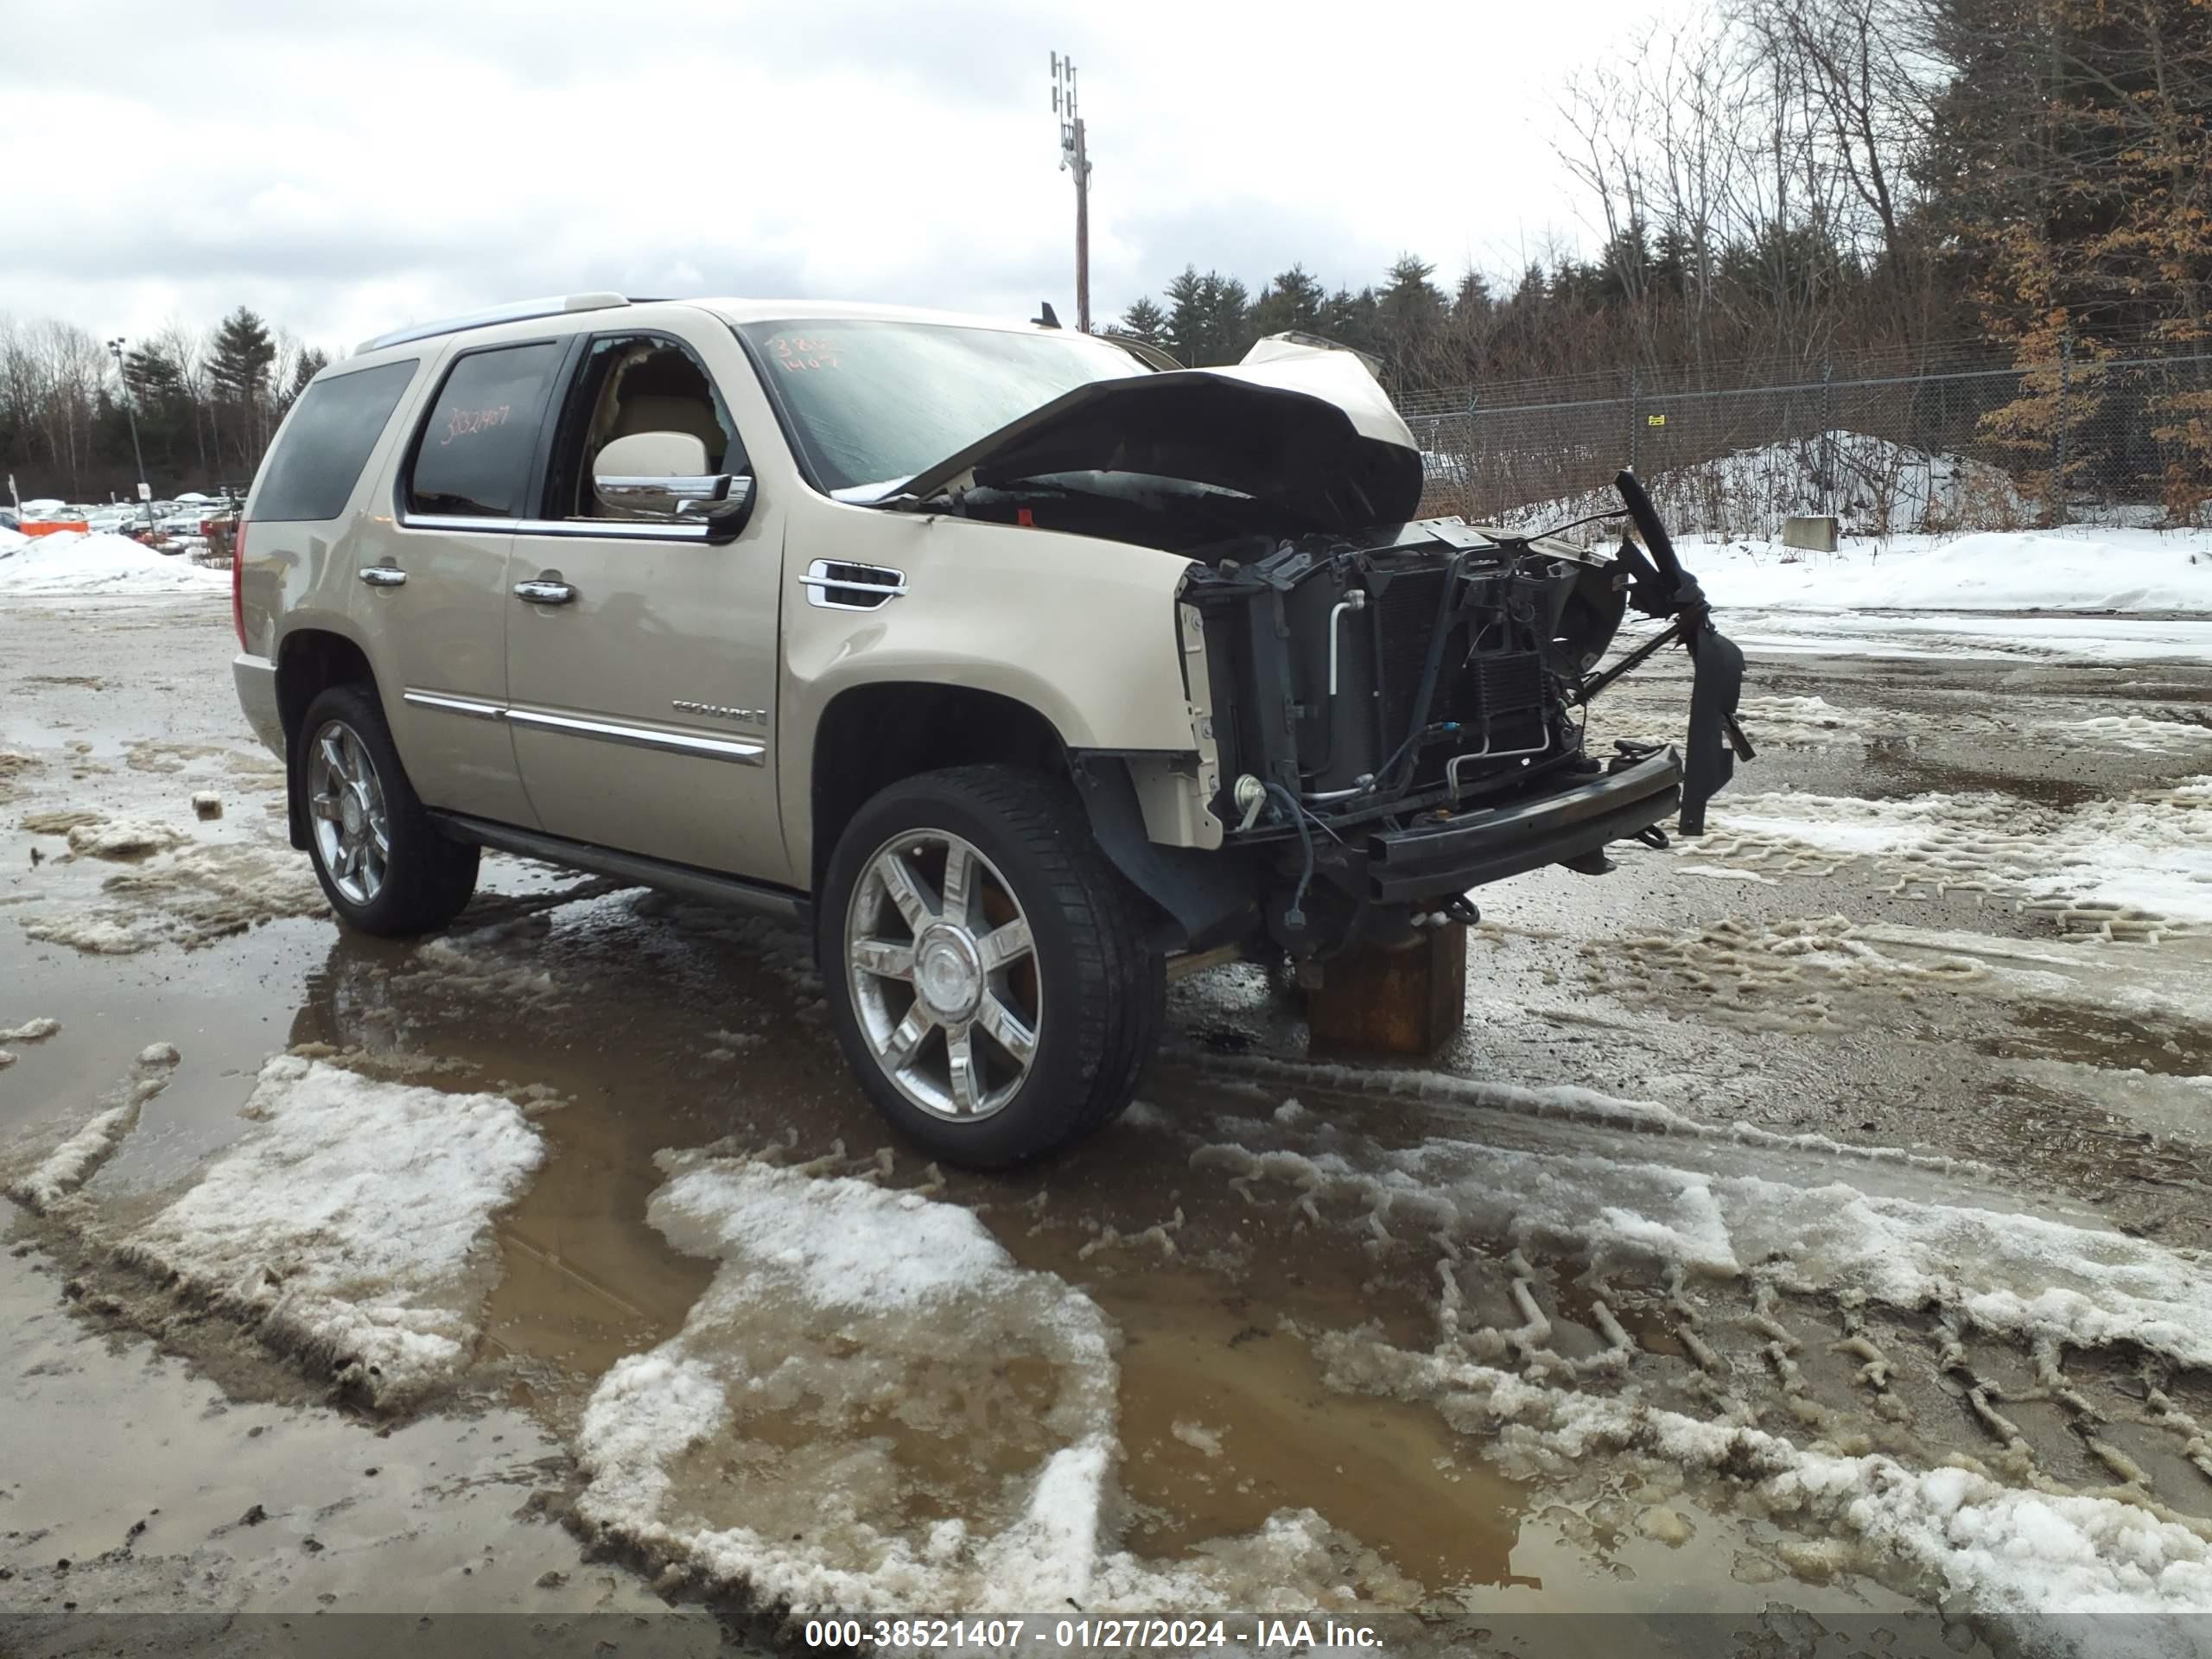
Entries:
[[615, 438], [679, 431], [710, 473], [750, 473], [723, 385], [752, 374], [728, 332], [593, 336], [553, 431], [540, 515], [507, 573], [507, 726], [555, 836], [783, 883], [776, 816], [776, 602], [783, 513], [734, 542], [624, 518], [591, 462]]

